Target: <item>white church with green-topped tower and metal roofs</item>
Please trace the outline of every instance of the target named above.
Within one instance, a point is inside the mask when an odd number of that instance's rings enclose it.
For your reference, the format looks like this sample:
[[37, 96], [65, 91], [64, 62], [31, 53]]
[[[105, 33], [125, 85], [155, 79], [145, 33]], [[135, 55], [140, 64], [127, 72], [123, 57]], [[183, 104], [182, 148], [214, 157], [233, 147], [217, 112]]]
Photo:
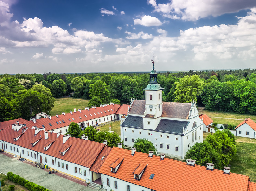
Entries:
[[[152, 59], [153, 61], [153, 59]], [[134, 141], [145, 138], [154, 144], [157, 153], [184, 159], [189, 147], [203, 142], [203, 121], [197, 105], [192, 103], [163, 102], [163, 88], [157, 82], [154, 68], [145, 90], [145, 100], [131, 101], [125, 120], [121, 121], [121, 140], [133, 147]]]

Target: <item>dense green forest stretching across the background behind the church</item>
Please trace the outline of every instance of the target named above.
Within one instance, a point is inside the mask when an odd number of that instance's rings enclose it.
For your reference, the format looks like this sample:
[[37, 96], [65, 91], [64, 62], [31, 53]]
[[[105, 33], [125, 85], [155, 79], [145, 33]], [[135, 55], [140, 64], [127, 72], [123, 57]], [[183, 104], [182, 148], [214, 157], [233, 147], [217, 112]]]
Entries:
[[[158, 74], [163, 101], [190, 103], [208, 110], [256, 115], [256, 69], [165, 72]], [[90, 99], [88, 107], [145, 99], [148, 73], [0, 75], [0, 121], [29, 119], [51, 111], [54, 98]]]

